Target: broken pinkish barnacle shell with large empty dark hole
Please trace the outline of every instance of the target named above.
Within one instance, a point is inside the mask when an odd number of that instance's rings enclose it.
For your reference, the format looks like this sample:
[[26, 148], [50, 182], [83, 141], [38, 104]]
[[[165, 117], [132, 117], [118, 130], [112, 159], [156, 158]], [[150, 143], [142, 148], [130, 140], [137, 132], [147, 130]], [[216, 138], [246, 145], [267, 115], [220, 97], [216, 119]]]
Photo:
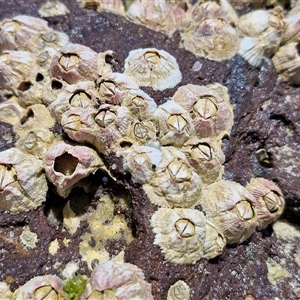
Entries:
[[[66, 198], [75, 186], [81, 186], [81, 179], [103, 167], [103, 162], [95, 150], [62, 141], [52, 144], [46, 152], [44, 167], [46, 176], [55, 185], [57, 193]], [[82, 187], [88, 192], [88, 187]]]

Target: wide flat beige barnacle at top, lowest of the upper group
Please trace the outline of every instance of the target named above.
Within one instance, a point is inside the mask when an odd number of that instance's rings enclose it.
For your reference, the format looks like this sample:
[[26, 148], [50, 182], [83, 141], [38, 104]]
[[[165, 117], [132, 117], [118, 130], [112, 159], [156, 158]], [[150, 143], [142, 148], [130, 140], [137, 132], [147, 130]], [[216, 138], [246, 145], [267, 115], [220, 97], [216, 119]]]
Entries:
[[184, 33], [184, 48], [209, 60], [231, 59], [238, 50], [239, 35], [221, 18], [204, 18]]

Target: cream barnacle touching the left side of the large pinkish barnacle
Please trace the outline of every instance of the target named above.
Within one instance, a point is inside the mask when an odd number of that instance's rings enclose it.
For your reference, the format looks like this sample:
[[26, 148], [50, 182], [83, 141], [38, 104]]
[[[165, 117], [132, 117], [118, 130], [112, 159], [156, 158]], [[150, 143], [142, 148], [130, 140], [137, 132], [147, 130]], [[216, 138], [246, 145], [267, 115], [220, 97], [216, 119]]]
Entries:
[[157, 124], [158, 139], [162, 146], [181, 147], [195, 136], [195, 129], [188, 112], [179, 104], [168, 100], [157, 107], [153, 114]]

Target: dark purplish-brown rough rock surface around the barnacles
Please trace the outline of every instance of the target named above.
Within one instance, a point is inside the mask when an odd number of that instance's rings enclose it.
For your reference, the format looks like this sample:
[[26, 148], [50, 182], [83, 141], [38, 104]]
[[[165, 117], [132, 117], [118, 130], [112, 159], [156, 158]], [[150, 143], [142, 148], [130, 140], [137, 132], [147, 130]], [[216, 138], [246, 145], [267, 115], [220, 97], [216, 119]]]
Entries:
[[[283, 191], [286, 200], [282, 218], [291, 224], [300, 225], [299, 88], [278, 83], [271, 60], [264, 60], [259, 68], [251, 67], [239, 56], [221, 63], [207, 61], [183, 50], [178, 33], [168, 38], [134, 25], [122, 17], [82, 9], [75, 0], [62, 2], [68, 7], [70, 14], [45, 18], [49, 26], [67, 33], [73, 43], [89, 46], [97, 52], [115, 51], [111, 61], [114, 71], [124, 71], [124, 61], [130, 50], [155, 47], [168, 51], [177, 59], [182, 72], [182, 81], [178, 86], [214, 82], [225, 85], [230, 101], [235, 105], [233, 130], [230, 137], [223, 141], [226, 155], [225, 179], [243, 185], [252, 177], [274, 181]], [[0, 18], [2, 20], [18, 14], [38, 17], [40, 5], [38, 0], [0, 0]], [[177, 87], [161, 92], [155, 92], [151, 88], [143, 90], [157, 104], [161, 104], [175, 93]], [[1, 151], [13, 144], [11, 125], [1, 123]], [[286, 257], [277, 245], [284, 242], [297, 243], [299, 236], [293, 240], [284, 240], [270, 226], [263, 232], [256, 232], [241, 245], [226, 247], [220, 257], [211, 261], [202, 259], [194, 265], [165, 262], [160, 248], [153, 245], [154, 234], [150, 227], [151, 216], [157, 208], [148, 201], [141, 187], [133, 184], [122, 170], [119, 171], [122, 165], [119, 158], [110, 156], [105, 161], [109, 166], [115, 164], [114, 175], [120, 180], [118, 184], [125, 186], [132, 197], [131, 222], [136, 239], [125, 249], [125, 261], [143, 270], [146, 280], [152, 284], [155, 299], [166, 299], [168, 288], [177, 280], [184, 280], [189, 285], [191, 299], [194, 300], [248, 299], [247, 296], [253, 297], [249, 299], [300, 297], [299, 288], [295, 289], [290, 283], [291, 277], [280, 277], [277, 280], [279, 287], [270, 282], [267, 267], [268, 259], [278, 263], [285, 260], [282, 268], [291, 276], [298, 276], [295, 275], [295, 270], [297, 257], [299, 264], [300, 252], [296, 252], [294, 257]], [[119, 188], [117, 183], [109, 184], [111, 186], [108, 192]], [[106, 189], [103, 182], [100, 188]], [[93, 195], [89, 197], [92, 198]], [[57, 211], [62, 213], [63, 204], [60, 200], [49, 192], [46, 203], [34, 211], [16, 216], [0, 214], [0, 281], [10, 283], [12, 289], [33, 276], [60, 275], [69, 261], [80, 260], [78, 244], [81, 235], [88, 230], [87, 223], [81, 222], [76, 233], [71, 235], [62, 229], [61, 220], [54, 226], [49, 224], [45, 215], [49, 205], [56, 206]], [[38, 244], [34, 249], [24, 250], [20, 245], [19, 236], [25, 225], [38, 235]], [[48, 253], [49, 243], [56, 238], [61, 247], [55, 255], [51, 255]], [[65, 238], [71, 239], [67, 246], [62, 242]], [[114, 246], [107, 245], [108, 248]], [[113, 249], [111, 251], [113, 253]], [[81, 263], [78, 272], [88, 274], [89, 271]]]

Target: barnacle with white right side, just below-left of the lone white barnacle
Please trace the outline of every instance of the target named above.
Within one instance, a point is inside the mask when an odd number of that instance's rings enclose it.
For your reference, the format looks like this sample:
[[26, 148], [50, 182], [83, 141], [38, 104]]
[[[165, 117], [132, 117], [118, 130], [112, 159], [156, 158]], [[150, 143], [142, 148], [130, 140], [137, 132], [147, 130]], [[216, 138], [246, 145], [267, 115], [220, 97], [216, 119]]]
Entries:
[[[138, 91], [138, 85], [122, 73], [109, 73], [97, 80], [97, 91], [101, 103], [119, 105], [127, 99], [131, 90]], [[128, 95], [131, 99], [131, 96]]]

